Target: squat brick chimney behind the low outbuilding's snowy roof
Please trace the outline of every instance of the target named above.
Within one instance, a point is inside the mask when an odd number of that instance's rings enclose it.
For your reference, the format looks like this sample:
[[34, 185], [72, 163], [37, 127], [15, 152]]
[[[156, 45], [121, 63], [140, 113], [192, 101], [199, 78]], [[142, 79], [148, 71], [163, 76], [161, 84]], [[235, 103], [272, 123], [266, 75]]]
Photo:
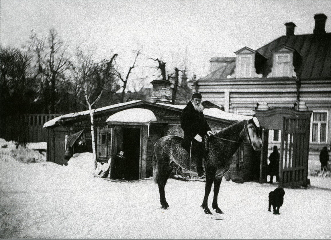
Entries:
[[169, 103], [171, 104], [171, 83], [170, 81], [153, 80], [152, 82], [153, 90], [152, 90], [152, 102], [161, 102], [161, 103]]

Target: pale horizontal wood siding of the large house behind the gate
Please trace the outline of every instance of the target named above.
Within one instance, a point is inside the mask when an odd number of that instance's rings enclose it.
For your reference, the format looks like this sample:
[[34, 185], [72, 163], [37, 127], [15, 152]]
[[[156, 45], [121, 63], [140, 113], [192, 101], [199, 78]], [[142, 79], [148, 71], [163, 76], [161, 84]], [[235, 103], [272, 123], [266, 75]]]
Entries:
[[[254, 114], [258, 102], [266, 102], [269, 108], [293, 108], [297, 101], [294, 78], [263, 79], [222, 79], [199, 82], [199, 92], [203, 98], [217, 104], [224, 104], [230, 113]], [[226, 93], [226, 94], [225, 94]], [[300, 101], [308, 110], [328, 112], [327, 142], [310, 143], [312, 151], [322, 145], [331, 144], [331, 80], [302, 80]]]

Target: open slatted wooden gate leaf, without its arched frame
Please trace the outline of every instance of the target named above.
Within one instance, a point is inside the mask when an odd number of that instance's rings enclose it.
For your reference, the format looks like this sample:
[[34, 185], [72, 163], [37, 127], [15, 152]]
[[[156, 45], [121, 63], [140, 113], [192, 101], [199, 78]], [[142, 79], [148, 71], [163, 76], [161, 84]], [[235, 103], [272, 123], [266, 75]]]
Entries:
[[310, 119], [284, 117], [279, 186], [307, 186]]

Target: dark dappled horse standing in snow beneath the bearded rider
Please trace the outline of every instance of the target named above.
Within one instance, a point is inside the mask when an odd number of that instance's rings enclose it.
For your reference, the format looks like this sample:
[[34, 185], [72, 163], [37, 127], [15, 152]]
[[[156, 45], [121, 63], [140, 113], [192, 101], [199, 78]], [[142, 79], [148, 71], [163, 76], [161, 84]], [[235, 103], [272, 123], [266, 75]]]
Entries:
[[[212, 214], [208, 208], [208, 196], [214, 183], [213, 209], [216, 213], [222, 213], [217, 205], [219, 186], [224, 174], [230, 169], [232, 155], [242, 143], [249, 143], [255, 151], [262, 148], [262, 141], [259, 135], [260, 124], [256, 117], [250, 120], [243, 120], [222, 129], [213, 136], [205, 139], [206, 156], [204, 159], [206, 170], [205, 197], [202, 208], [206, 214]], [[153, 155], [153, 179], [159, 186], [160, 203], [163, 209], [169, 207], [166, 202], [165, 185], [172, 171], [172, 162], [182, 168], [196, 172], [195, 160], [182, 147], [184, 138], [168, 135], [160, 138], [154, 145]], [[192, 156], [193, 157], [193, 156]], [[191, 164], [192, 163], [192, 164]]]

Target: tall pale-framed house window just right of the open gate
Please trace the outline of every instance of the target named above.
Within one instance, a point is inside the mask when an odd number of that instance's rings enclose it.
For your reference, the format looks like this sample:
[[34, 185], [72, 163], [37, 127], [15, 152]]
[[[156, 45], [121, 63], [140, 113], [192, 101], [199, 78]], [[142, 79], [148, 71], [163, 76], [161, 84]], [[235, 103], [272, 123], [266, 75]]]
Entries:
[[317, 142], [317, 143], [326, 142], [327, 113], [313, 112], [311, 124], [312, 124], [311, 142]]

